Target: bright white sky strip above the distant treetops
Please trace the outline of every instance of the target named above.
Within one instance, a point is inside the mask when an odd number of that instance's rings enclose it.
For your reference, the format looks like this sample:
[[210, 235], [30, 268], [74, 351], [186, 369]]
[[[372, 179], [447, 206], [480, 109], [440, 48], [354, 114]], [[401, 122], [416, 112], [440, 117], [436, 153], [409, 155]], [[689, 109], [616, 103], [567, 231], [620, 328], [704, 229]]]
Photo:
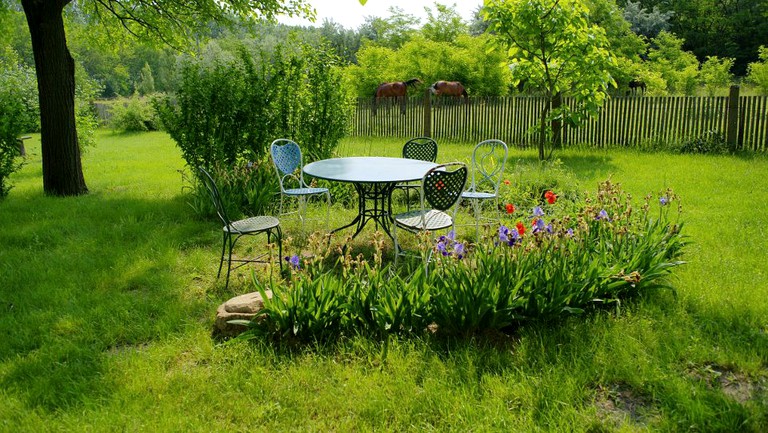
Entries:
[[[357, 29], [365, 21], [366, 16], [388, 17], [390, 6], [397, 6], [403, 9], [405, 13], [414, 15], [421, 19], [421, 24], [426, 22], [427, 13], [425, 7], [435, 9], [435, 0], [368, 0], [365, 6], [360, 5], [358, 0], [308, 0], [309, 4], [317, 11], [317, 19], [312, 24], [307, 20], [297, 18], [280, 17], [278, 21], [283, 24], [291, 25], [322, 25], [323, 19], [332, 19], [348, 29]], [[441, 0], [441, 4], [451, 6], [456, 5], [456, 11], [461, 15], [464, 21], [469, 21], [472, 13], [482, 0]]]

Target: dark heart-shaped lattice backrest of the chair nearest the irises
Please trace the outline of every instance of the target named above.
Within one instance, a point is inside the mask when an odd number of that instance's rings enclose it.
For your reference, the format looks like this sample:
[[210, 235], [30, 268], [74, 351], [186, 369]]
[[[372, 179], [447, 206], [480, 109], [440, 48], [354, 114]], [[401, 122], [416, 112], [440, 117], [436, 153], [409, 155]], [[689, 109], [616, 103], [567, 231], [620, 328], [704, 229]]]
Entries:
[[461, 162], [441, 164], [429, 170], [421, 181], [422, 203], [446, 211], [461, 197], [467, 184], [467, 166]]

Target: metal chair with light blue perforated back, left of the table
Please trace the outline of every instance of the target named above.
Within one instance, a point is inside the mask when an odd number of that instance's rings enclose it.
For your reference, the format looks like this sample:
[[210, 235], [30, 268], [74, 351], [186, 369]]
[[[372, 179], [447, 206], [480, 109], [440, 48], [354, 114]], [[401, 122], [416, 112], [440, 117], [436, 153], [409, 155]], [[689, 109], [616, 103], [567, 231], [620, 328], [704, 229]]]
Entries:
[[325, 219], [327, 224], [331, 218], [331, 193], [328, 188], [314, 188], [304, 182], [304, 161], [299, 145], [295, 141], [279, 138], [272, 142], [270, 155], [280, 181], [280, 215], [293, 213], [283, 212], [283, 199], [285, 197], [298, 199], [299, 207], [296, 212], [301, 220], [303, 230], [307, 200], [312, 196], [324, 194], [328, 204], [328, 216]]

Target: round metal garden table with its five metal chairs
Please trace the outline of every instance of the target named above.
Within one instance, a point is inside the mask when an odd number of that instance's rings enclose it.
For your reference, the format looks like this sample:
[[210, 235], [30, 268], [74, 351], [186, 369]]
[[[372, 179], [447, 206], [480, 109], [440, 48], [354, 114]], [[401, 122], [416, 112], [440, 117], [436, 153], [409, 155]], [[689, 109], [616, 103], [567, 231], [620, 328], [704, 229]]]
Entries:
[[[507, 145], [500, 140], [485, 140], [477, 144], [472, 152], [472, 170], [466, 164], [451, 162], [438, 164], [437, 143], [428, 137], [409, 140], [403, 146], [402, 158], [390, 157], [345, 157], [331, 158], [303, 164], [301, 148], [288, 139], [272, 142], [270, 155], [277, 172], [280, 185], [279, 214], [285, 215], [284, 200], [297, 199], [295, 211], [301, 220], [302, 229], [307, 201], [313, 196], [325, 197], [327, 206], [326, 222], [330, 220], [331, 194], [328, 188], [312, 187], [306, 182], [305, 174], [317, 179], [332, 182], [345, 182], [354, 186], [358, 196], [358, 209], [355, 218], [346, 225], [330, 231], [331, 234], [354, 226], [356, 237], [368, 222], [373, 221], [393, 241], [395, 263], [403, 254], [397, 242], [397, 230], [416, 233], [438, 231], [453, 227], [456, 211], [462, 200], [468, 200], [475, 214], [476, 235], [479, 236], [483, 217], [483, 202], [492, 202], [498, 211], [498, 193], [504, 165], [507, 159]], [[232, 250], [238, 239], [246, 235], [264, 233], [267, 242], [274, 237], [277, 241], [280, 257], [282, 256], [282, 232], [280, 222], [273, 216], [255, 216], [232, 221], [224, 206], [213, 178], [202, 168], [198, 168], [201, 178], [210, 193], [216, 211], [224, 224], [221, 259], [217, 278], [221, 276], [224, 262], [227, 262], [226, 285], [232, 269], [252, 262], [263, 262], [269, 253], [256, 258], [236, 259]], [[469, 179], [469, 182], [467, 180]], [[402, 190], [406, 194], [407, 210], [402, 213], [392, 211], [392, 194]], [[410, 209], [410, 192], [419, 194], [419, 208]], [[450, 210], [453, 209], [451, 213]], [[232, 264], [237, 265], [233, 268]], [[282, 267], [282, 262], [280, 264]]]

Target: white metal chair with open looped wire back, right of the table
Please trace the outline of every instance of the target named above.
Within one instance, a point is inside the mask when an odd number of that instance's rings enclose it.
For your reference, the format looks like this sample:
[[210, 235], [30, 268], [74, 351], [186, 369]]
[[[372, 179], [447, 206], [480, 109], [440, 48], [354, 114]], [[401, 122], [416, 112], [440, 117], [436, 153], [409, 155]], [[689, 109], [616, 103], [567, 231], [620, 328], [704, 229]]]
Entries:
[[[501, 140], [485, 140], [475, 146], [472, 151], [472, 180], [469, 188], [461, 194], [461, 199], [472, 203], [475, 214], [475, 236], [480, 240], [480, 221], [501, 222], [499, 209], [499, 185], [504, 177], [504, 165], [507, 162], [509, 150]], [[460, 201], [461, 201], [460, 199]], [[482, 215], [483, 202], [492, 201], [496, 207], [497, 218], [487, 218]]]

